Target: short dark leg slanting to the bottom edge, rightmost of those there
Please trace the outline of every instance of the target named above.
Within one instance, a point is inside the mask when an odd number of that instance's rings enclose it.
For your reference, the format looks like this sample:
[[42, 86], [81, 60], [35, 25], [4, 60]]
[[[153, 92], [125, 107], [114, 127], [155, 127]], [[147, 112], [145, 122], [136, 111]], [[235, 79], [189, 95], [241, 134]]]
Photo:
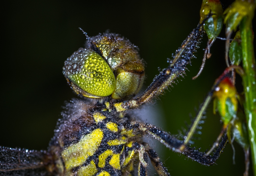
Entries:
[[155, 171], [157, 171], [159, 176], [170, 176], [167, 169], [163, 166], [163, 163], [160, 161], [160, 158], [158, 157], [158, 154], [150, 147], [147, 147], [147, 153], [149, 155], [150, 161], [155, 168]]

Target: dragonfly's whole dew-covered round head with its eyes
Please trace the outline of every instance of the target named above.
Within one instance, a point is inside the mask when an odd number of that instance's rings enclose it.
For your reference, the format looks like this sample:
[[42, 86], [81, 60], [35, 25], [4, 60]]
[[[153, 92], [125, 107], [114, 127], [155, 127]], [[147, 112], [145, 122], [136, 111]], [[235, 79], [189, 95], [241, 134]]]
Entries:
[[145, 77], [136, 46], [113, 33], [89, 38], [65, 61], [63, 74], [77, 94], [113, 99], [137, 94]]

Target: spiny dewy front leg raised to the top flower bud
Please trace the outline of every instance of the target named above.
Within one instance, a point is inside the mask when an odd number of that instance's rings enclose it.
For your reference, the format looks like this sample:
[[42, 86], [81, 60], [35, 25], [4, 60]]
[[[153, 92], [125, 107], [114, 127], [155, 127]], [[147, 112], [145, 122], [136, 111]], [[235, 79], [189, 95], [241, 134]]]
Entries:
[[212, 14], [209, 14], [207, 18], [190, 33], [186, 40], [183, 41], [181, 47], [176, 50], [173, 60], [167, 61], [170, 63], [169, 66], [164, 68], [159, 75], [155, 76], [153, 82], [141, 96], [133, 100], [113, 103], [112, 106], [114, 106], [117, 111], [138, 108], [145, 102], [152, 100], [152, 98], [163, 94], [164, 90], [167, 89], [169, 85], [174, 83], [179, 76], [183, 76], [187, 69], [186, 65], [190, 64], [190, 59], [195, 57], [193, 52], [199, 48], [198, 44], [203, 35], [201, 27], [211, 15]]

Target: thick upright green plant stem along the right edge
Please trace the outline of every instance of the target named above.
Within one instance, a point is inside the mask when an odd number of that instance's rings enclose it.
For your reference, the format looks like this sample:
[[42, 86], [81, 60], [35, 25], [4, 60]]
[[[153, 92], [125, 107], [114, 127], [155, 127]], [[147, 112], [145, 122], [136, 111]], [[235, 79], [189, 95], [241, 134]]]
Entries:
[[243, 86], [245, 92], [245, 115], [251, 144], [251, 158], [254, 175], [256, 175], [256, 71], [253, 48], [253, 31], [251, 22], [243, 18], [240, 24], [241, 45], [243, 55], [244, 76]]

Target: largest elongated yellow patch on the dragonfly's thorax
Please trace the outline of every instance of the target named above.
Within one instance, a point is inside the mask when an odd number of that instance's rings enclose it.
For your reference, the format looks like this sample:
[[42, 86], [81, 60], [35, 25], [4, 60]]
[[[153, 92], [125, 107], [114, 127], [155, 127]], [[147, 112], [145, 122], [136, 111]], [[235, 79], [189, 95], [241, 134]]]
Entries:
[[102, 138], [103, 132], [98, 128], [90, 134], [86, 134], [78, 143], [63, 150], [61, 156], [65, 162], [66, 170], [82, 165], [89, 156], [93, 156]]

